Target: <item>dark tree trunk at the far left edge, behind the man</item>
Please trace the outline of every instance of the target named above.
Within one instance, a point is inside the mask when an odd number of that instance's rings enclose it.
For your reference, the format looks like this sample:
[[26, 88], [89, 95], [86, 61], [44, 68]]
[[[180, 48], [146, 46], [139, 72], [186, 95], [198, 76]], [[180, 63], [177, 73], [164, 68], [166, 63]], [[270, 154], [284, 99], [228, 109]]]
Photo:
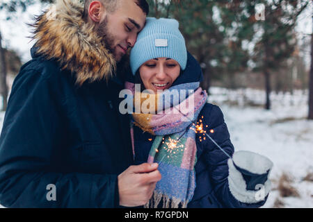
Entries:
[[0, 62], [1, 62], [1, 71], [0, 71], [0, 92], [3, 99], [2, 110], [6, 111], [7, 99], [8, 99], [8, 86], [6, 85], [6, 56], [5, 51], [2, 48], [2, 37], [0, 32]]

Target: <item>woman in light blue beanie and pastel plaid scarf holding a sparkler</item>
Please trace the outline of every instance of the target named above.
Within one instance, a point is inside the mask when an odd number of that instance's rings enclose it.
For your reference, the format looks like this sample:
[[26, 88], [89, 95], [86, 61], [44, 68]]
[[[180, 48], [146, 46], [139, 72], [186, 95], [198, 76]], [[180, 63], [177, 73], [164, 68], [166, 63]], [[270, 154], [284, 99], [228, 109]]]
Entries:
[[223, 113], [207, 103], [200, 66], [178, 26], [147, 18], [131, 50], [134, 161], [158, 162], [162, 176], [145, 207], [260, 207], [272, 163], [234, 153]]

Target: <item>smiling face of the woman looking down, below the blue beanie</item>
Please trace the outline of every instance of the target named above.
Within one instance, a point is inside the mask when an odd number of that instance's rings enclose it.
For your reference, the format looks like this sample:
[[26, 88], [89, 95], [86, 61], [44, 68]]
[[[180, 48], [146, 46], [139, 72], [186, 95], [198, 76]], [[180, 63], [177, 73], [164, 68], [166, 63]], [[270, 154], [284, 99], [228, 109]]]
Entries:
[[145, 89], [168, 89], [180, 73], [180, 66], [171, 58], [154, 58], [139, 67], [139, 73]]

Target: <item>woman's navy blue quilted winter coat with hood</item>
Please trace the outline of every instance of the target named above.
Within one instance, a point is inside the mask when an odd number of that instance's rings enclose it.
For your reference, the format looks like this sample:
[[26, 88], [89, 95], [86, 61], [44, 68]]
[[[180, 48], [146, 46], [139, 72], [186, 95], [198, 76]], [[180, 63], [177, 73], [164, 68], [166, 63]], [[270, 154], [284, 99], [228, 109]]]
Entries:
[[[202, 80], [202, 71], [198, 62], [188, 53], [188, 62], [185, 71], [175, 80], [173, 85], [191, 83]], [[224, 121], [223, 112], [217, 105], [206, 103], [198, 118], [203, 116], [203, 126], [208, 125], [214, 133], [209, 135], [228, 155], [234, 153], [234, 146], [230, 141], [230, 133]], [[193, 199], [187, 207], [219, 208], [219, 207], [260, 207], [264, 200], [253, 203], [241, 203], [231, 194], [228, 177], [228, 157], [209, 138], [200, 142], [199, 134], [196, 134], [197, 163], [195, 164], [195, 192]], [[143, 130], [134, 126], [135, 164], [147, 161], [154, 136], [143, 133]]]

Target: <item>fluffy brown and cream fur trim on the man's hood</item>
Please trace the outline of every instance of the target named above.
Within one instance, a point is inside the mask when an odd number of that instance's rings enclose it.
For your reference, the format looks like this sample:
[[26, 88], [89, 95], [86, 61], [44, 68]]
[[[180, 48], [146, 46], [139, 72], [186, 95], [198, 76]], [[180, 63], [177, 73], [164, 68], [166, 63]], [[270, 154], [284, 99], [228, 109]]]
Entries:
[[83, 3], [57, 0], [36, 18], [33, 39], [38, 54], [56, 59], [76, 75], [76, 83], [109, 80], [116, 62], [98, 37], [95, 26], [83, 21]]

